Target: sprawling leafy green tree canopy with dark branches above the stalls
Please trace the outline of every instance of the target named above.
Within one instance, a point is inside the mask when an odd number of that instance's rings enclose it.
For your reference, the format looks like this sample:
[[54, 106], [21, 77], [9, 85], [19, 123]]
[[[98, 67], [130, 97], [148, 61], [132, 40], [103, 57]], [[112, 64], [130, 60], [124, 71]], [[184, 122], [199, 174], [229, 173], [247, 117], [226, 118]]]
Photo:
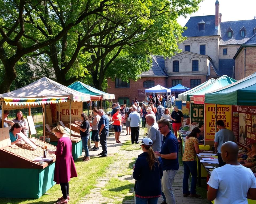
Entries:
[[64, 85], [88, 75], [100, 89], [105, 77], [137, 79], [150, 54], [179, 51], [183, 28], [176, 19], [200, 1], [6, 0], [0, 4], [0, 92], [8, 91], [15, 63], [28, 54], [49, 59]]

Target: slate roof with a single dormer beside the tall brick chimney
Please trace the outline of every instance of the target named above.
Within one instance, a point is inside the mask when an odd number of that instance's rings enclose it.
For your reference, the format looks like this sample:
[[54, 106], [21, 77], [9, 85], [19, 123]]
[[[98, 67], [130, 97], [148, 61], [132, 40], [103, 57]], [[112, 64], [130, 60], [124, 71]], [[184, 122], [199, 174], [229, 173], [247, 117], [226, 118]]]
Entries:
[[[198, 22], [201, 21], [205, 22], [204, 31], [198, 31]], [[190, 17], [185, 26], [187, 29], [182, 33], [183, 37], [218, 35], [218, 29], [215, 29], [215, 15]]]

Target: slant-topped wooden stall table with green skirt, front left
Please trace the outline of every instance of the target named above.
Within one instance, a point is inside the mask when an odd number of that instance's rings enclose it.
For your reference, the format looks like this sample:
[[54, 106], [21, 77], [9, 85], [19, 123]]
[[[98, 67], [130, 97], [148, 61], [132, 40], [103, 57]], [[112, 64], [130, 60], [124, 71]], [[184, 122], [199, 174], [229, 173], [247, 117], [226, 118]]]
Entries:
[[[37, 138], [31, 138], [36, 145], [56, 147]], [[52, 160], [39, 164], [36, 157], [43, 156], [43, 149], [35, 150], [26, 143], [0, 148], [0, 197], [40, 198], [56, 182], [53, 181], [56, 156], [47, 154]]]

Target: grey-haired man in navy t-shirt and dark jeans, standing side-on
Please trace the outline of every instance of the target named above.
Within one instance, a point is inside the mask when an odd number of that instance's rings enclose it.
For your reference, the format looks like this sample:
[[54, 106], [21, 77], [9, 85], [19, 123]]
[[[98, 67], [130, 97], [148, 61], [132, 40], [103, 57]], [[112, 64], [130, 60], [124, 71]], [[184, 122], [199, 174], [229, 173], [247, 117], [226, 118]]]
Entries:
[[107, 137], [109, 136], [109, 118], [105, 115], [103, 109], [99, 109], [99, 116], [101, 119], [99, 120], [99, 142], [101, 143], [102, 152], [99, 153], [99, 157], [107, 156]]

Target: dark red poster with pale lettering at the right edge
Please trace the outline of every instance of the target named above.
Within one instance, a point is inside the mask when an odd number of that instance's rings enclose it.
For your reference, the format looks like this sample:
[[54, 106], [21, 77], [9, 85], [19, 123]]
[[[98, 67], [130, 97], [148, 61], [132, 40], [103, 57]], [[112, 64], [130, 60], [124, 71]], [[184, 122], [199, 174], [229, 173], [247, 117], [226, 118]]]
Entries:
[[232, 130], [241, 145], [256, 142], [256, 107], [232, 106]]

